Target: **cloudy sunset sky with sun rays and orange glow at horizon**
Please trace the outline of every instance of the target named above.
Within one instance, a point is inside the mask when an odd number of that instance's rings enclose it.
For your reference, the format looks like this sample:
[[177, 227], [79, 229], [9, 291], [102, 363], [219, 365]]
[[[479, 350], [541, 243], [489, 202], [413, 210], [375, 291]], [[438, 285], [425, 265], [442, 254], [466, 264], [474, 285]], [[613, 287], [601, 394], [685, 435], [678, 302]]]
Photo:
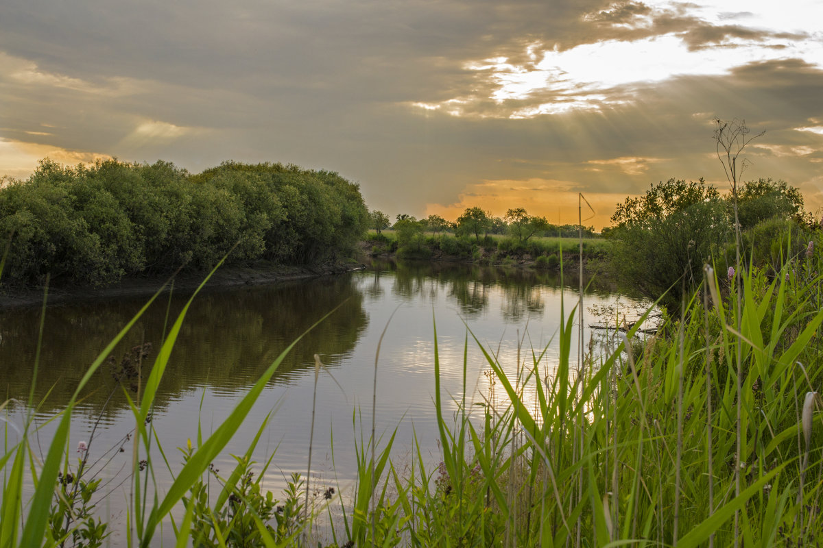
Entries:
[[524, 207], [607, 226], [649, 185], [823, 208], [823, 2], [3, 0], [0, 175], [40, 159], [295, 163], [392, 218]]

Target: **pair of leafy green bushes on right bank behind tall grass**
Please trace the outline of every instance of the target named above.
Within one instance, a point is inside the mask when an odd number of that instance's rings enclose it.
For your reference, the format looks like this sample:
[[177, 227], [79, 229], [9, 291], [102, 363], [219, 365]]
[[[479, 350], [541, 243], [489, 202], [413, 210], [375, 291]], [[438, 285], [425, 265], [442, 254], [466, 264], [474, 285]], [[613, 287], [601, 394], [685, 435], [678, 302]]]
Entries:
[[[796, 188], [783, 181], [744, 182], [737, 191], [743, 267], [773, 274], [808, 245], [820, 227], [803, 211]], [[644, 196], [626, 198], [604, 231], [613, 242], [609, 269], [644, 296], [669, 306], [700, 284], [704, 263], [736, 261], [732, 193], [699, 181], [669, 179]]]

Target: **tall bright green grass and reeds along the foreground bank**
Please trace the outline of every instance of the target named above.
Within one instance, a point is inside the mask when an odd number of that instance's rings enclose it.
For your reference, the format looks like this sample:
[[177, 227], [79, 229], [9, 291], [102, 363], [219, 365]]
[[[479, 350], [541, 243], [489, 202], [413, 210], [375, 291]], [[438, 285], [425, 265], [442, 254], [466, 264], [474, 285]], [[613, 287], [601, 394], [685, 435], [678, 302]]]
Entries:
[[[184, 464], [165, 493], [152, 484], [157, 463], [140, 459], [157, 443], [146, 419], [187, 306], [132, 402], [129, 546], [153, 546], [161, 523], [174, 527], [178, 546], [189, 538], [198, 546], [317, 546], [308, 532], [322, 519], [333, 527], [321, 546], [337, 547], [813, 545], [823, 533], [820, 267], [798, 261], [772, 279], [750, 268], [739, 289], [706, 269], [700, 292], [641, 352], [630, 343], [638, 322], [613, 352], [589, 355], [582, 370], [570, 356], [578, 310], [562, 311], [552, 375], [545, 348], [524, 345], [516, 357], [500, 357], [467, 331], [464, 367], [468, 347], [477, 345], [510, 403], [467, 408], [463, 394], [454, 416], [440, 393], [433, 322], [442, 463], [428, 468], [416, 444], [411, 472], [402, 472], [390, 458], [393, 435], [372, 434], [356, 449], [354, 490], [310, 512], [301, 504], [308, 488], [300, 477], [292, 478], [282, 512], [273, 509], [273, 496], [249, 476], [251, 448], [228, 477], [217, 478], [216, 498], [203, 495], [203, 478], [216, 477], [209, 463], [291, 347], [211, 436], [198, 433], [196, 447], [182, 449]], [[140, 314], [100, 352], [78, 393]], [[506, 373], [504, 359], [516, 359], [516, 374]], [[527, 393], [536, 394], [536, 405]], [[0, 548], [95, 546], [80, 535], [82, 520], [70, 520], [57, 537], [51, 527], [63, 492], [58, 478], [63, 487], [72, 472], [77, 486], [84, 481], [67, 446], [75, 402], [54, 418], [59, 426], [42, 463], [26, 435], [0, 458]], [[24, 502], [26, 482], [34, 495]], [[68, 506], [62, 511], [81, 515], [77, 500]], [[173, 514], [184, 517], [175, 522]]]

